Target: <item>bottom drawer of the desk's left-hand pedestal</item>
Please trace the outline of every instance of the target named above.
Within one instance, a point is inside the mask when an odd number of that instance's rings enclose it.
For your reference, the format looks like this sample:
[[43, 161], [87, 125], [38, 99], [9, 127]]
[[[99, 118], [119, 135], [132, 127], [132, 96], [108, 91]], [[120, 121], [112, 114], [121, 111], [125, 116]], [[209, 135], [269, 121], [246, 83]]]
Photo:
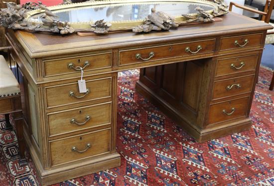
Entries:
[[111, 130], [106, 129], [51, 141], [51, 165], [55, 166], [108, 153], [110, 151], [110, 135]]

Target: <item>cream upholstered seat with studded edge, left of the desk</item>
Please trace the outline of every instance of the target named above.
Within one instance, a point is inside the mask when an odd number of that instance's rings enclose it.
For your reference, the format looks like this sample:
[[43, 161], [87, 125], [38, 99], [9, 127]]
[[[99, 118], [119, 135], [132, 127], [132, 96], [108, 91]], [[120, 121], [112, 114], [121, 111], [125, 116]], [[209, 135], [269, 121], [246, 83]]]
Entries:
[[19, 84], [4, 57], [0, 55], [0, 97], [20, 94]]

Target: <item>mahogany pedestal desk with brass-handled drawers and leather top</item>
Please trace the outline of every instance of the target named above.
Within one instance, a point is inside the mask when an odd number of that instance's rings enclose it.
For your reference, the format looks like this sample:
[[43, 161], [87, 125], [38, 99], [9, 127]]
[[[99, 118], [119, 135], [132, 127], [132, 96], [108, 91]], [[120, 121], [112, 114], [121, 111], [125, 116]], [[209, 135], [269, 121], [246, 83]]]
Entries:
[[[147, 34], [9, 30], [11, 58], [23, 77], [24, 136], [41, 183], [120, 166], [116, 88], [122, 70], [142, 68], [137, 90], [200, 142], [249, 129], [272, 26], [231, 12], [222, 18]], [[73, 67], [87, 64], [89, 91], [79, 93], [81, 72]]]

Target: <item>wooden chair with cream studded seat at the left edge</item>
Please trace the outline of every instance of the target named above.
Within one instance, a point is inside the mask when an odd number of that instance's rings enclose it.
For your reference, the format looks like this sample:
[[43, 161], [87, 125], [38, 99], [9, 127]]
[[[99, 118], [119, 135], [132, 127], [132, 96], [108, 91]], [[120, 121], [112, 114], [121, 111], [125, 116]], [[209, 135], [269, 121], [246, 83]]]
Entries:
[[5, 116], [6, 129], [11, 129], [9, 114], [12, 114], [15, 125], [15, 133], [19, 146], [19, 165], [27, 164], [24, 151], [25, 143], [23, 141], [23, 122], [21, 107], [21, 97], [19, 84], [11, 72], [6, 60], [0, 55], [0, 115]]

